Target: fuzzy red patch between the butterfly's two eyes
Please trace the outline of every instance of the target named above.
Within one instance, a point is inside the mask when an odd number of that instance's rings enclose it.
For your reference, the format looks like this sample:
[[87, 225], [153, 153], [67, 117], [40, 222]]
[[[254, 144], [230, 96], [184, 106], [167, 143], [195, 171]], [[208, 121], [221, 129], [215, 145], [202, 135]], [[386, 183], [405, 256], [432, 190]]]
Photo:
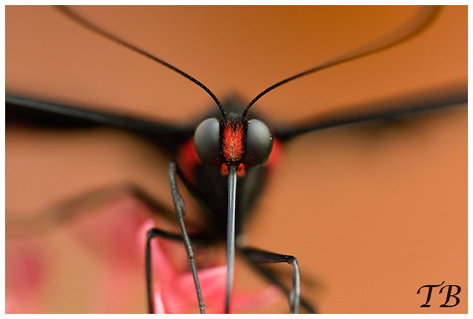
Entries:
[[240, 162], [245, 150], [244, 123], [227, 121], [222, 130], [222, 152], [225, 161]]

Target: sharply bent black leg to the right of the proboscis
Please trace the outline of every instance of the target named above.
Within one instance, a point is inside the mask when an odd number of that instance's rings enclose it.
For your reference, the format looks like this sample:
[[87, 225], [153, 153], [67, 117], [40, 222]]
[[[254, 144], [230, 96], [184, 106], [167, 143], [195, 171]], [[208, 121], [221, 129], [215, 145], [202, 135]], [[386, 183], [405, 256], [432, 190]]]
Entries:
[[[259, 249], [254, 248], [242, 248], [240, 251], [260, 270], [264, 273], [262, 268], [258, 267], [259, 263], [279, 263], [279, 262], [286, 262], [293, 266], [293, 287], [292, 290], [288, 293], [289, 299], [289, 306], [290, 310], [293, 313], [299, 313], [299, 305], [301, 299], [301, 282], [300, 282], [300, 274], [299, 274], [299, 266], [297, 264], [297, 259], [294, 256], [290, 255], [281, 255], [276, 253], [270, 253], [266, 251], [262, 251]], [[267, 274], [265, 274], [268, 276]], [[273, 274], [274, 275], [274, 274]], [[277, 279], [274, 276], [275, 279]], [[283, 290], [286, 290], [282, 283], [278, 280], [274, 280], [270, 278], [271, 281], [275, 282], [278, 286], [280, 286]], [[278, 281], [278, 282], [277, 282]]]

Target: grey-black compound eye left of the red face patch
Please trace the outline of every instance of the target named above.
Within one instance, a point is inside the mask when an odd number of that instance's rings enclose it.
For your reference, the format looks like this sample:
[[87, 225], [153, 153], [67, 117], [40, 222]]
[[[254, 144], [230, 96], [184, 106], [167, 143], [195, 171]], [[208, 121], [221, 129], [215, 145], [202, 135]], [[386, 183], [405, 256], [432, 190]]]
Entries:
[[222, 164], [219, 120], [208, 118], [198, 125], [194, 133], [194, 149], [202, 163], [209, 166]]

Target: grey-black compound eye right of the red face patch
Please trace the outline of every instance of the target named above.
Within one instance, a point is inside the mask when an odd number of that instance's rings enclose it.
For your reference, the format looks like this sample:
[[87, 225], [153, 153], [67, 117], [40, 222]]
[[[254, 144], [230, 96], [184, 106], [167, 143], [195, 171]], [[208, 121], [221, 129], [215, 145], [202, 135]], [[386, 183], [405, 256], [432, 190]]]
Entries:
[[245, 166], [251, 167], [266, 163], [272, 150], [272, 134], [260, 120], [248, 121], [246, 133]]

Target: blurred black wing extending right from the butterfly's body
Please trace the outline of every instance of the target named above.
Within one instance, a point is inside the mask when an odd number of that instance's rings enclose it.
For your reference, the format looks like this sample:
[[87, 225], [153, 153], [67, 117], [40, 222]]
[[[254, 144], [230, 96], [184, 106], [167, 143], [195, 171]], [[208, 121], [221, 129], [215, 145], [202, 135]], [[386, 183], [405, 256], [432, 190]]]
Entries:
[[[276, 138], [286, 141], [303, 133], [368, 121], [392, 121], [422, 115], [436, 109], [455, 107], [468, 102], [468, 83], [432, 88], [383, 101], [352, 105], [346, 110], [326, 113], [297, 125], [271, 125]], [[348, 110], [348, 111], [347, 111]]]

